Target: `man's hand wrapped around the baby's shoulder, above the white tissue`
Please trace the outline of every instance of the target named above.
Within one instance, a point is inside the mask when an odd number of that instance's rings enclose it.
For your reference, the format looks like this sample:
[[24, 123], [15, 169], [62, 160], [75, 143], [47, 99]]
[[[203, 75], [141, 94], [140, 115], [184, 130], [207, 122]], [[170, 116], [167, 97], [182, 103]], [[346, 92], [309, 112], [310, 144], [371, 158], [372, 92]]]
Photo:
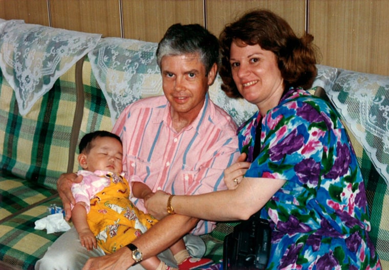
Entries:
[[59, 197], [62, 200], [63, 209], [65, 210], [65, 219], [70, 220], [72, 211], [70, 210], [70, 204], [76, 204], [76, 201], [72, 193], [72, 184], [80, 183], [82, 181], [82, 175], [77, 176], [75, 173], [62, 173], [57, 181], [57, 191]]

